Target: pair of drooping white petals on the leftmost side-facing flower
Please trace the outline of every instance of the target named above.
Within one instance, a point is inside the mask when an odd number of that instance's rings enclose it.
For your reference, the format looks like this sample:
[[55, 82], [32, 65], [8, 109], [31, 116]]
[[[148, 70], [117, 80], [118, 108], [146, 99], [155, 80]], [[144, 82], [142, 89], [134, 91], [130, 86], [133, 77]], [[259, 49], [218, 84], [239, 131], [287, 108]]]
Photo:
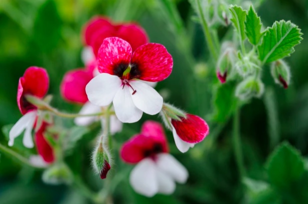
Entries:
[[30, 112], [25, 113], [20, 119], [12, 126], [12, 128], [9, 130], [9, 141], [8, 145], [12, 146], [14, 144], [14, 139], [21, 134], [21, 132], [25, 129], [24, 135], [23, 135], [23, 145], [31, 148], [34, 146], [31, 130], [33, 128], [33, 124], [35, 122], [35, 118], [37, 115], [36, 110], [32, 110]]

